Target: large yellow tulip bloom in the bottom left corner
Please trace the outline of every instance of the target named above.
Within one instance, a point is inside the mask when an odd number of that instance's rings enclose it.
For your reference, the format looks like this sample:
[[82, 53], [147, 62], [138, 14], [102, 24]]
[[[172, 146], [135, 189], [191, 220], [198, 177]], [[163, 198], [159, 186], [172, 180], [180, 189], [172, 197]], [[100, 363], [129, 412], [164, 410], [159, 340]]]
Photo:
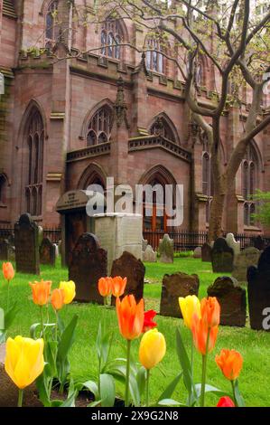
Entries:
[[20, 389], [27, 387], [43, 372], [44, 343], [42, 339], [21, 335], [7, 338], [5, 345], [5, 372]]

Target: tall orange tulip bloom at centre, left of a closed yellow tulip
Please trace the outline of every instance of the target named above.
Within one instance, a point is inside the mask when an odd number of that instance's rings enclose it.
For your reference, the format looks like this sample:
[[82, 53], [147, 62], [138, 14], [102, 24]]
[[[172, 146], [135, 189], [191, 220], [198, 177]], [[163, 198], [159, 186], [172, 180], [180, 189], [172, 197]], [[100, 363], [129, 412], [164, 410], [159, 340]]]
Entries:
[[138, 338], [144, 327], [144, 299], [136, 304], [133, 295], [126, 295], [120, 300], [116, 298], [116, 313], [118, 317], [119, 330], [127, 340]]

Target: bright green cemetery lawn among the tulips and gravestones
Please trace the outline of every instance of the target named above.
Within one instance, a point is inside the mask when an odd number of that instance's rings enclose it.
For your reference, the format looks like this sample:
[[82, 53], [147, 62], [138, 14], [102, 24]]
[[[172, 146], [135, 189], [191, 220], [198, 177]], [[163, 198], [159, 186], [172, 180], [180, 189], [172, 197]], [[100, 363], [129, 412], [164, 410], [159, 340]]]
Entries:
[[[0, 262], [2, 269], [2, 262]], [[154, 308], [159, 311], [159, 302], [161, 295], [161, 282], [163, 274], [171, 274], [176, 271], [186, 273], [197, 273], [200, 277], [199, 297], [205, 297], [208, 286], [220, 275], [211, 271], [210, 263], [201, 262], [192, 258], [174, 259], [173, 264], [147, 263], [145, 264], [145, 279], [149, 284], [144, 286], [145, 309]], [[57, 267], [51, 269], [49, 266], [42, 266], [41, 277], [33, 275], [24, 275], [17, 273], [10, 288], [10, 304], [17, 301], [20, 306], [18, 316], [13, 326], [9, 329], [8, 335], [29, 336], [30, 326], [39, 321], [39, 307], [32, 301], [31, 288], [29, 281], [37, 279], [52, 280], [52, 288], [57, 288], [61, 280], [68, 279], [68, 270], [61, 269], [58, 260]], [[0, 306], [6, 306], [6, 283], [1, 275], [0, 280]], [[50, 307], [51, 311], [51, 307]], [[77, 338], [70, 352], [71, 373], [76, 382], [85, 382], [89, 379], [95, 379], [98, 371], [98, 362], [95, 352], [95, 340], [100, 321], [105, 323], [108, 330], [114, 334], [114, 344], [111, 350], [111, 358], [122, 357], [125, 354], [126, 342], [119, 335], [116, 321], [116, 312], [112, 309], [92, 304], [73, 303], [61, 310], [61, 317], [66, 322], [74, 314], [79, 315], [79, 324], [77, 328]], [[50, 319], [53, 321], [51, 311]], [[179, 360], [175, 351], [175, 330], [177, 327], [182, 332], [185, 346], [190, 349], [190, 332], [183, 326], [182, 319], [156, 316], [158, 328], [166, 338], [167, 353], [160, 367], [152, 372], [150, 382], [151, 402], [155, 402], [163, 392], [173, 377], [180, 371]], [[247, 324], [248, 326], [248, 324]], [[139, 341], [132, 343], [132, 353], [137, 360]], [[219, 335], [217, 345], [214, 351], [209, 354], [209, 367], [207, 382], [226, 392], [230, 392], [230, 383], [223, 378], [218, 366], [215, 364], [214, 357], [221, 348], [234, 348], [244, 357], [243, 370], [240, 374], [239, 388], [242, 392], [247, 406], [269, 406], [269, 370], [270, 370], [270, 333], [263, 331], [253, 331], [249, 327], [238, 328], [229, 326], [219, 326]], [[200, 382], [201, 358], [195, 354], [196, 382]], [[117, 384], [117, 394], [123, 397], [124, 389]], [[176, 388], [172, 398], [178, 401], [185, 401], [185, 391], [182, 382]], [[218, 396], [207, 394], [206, 403], [209, 406], [215, 406], [218, 402]]]

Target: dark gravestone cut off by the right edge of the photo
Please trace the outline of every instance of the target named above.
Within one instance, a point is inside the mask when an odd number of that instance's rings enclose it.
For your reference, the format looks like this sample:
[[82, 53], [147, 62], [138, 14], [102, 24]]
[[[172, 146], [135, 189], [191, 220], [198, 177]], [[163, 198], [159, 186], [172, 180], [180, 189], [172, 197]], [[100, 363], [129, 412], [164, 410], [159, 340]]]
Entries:
[[261, 254], [257, 267], [247, 269], [247, 282], [250, 326], [252, 329], [269, 331], [269, 320], [265, 322], [270, 307], [270, 247]]

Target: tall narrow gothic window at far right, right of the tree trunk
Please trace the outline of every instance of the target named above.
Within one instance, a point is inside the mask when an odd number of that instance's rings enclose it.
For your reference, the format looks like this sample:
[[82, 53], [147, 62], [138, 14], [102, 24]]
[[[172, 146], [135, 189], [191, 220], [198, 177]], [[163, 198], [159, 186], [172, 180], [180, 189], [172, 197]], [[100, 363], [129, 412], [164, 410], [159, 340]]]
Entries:
[[254, 194], [256, 192], [258, 179], [258, 161], [253, 146], [248, 146], [247, 154], [242, 162], [242, 195], [244, 202], [244, 224], [254, 224], [253, 214], [256, 211]]

